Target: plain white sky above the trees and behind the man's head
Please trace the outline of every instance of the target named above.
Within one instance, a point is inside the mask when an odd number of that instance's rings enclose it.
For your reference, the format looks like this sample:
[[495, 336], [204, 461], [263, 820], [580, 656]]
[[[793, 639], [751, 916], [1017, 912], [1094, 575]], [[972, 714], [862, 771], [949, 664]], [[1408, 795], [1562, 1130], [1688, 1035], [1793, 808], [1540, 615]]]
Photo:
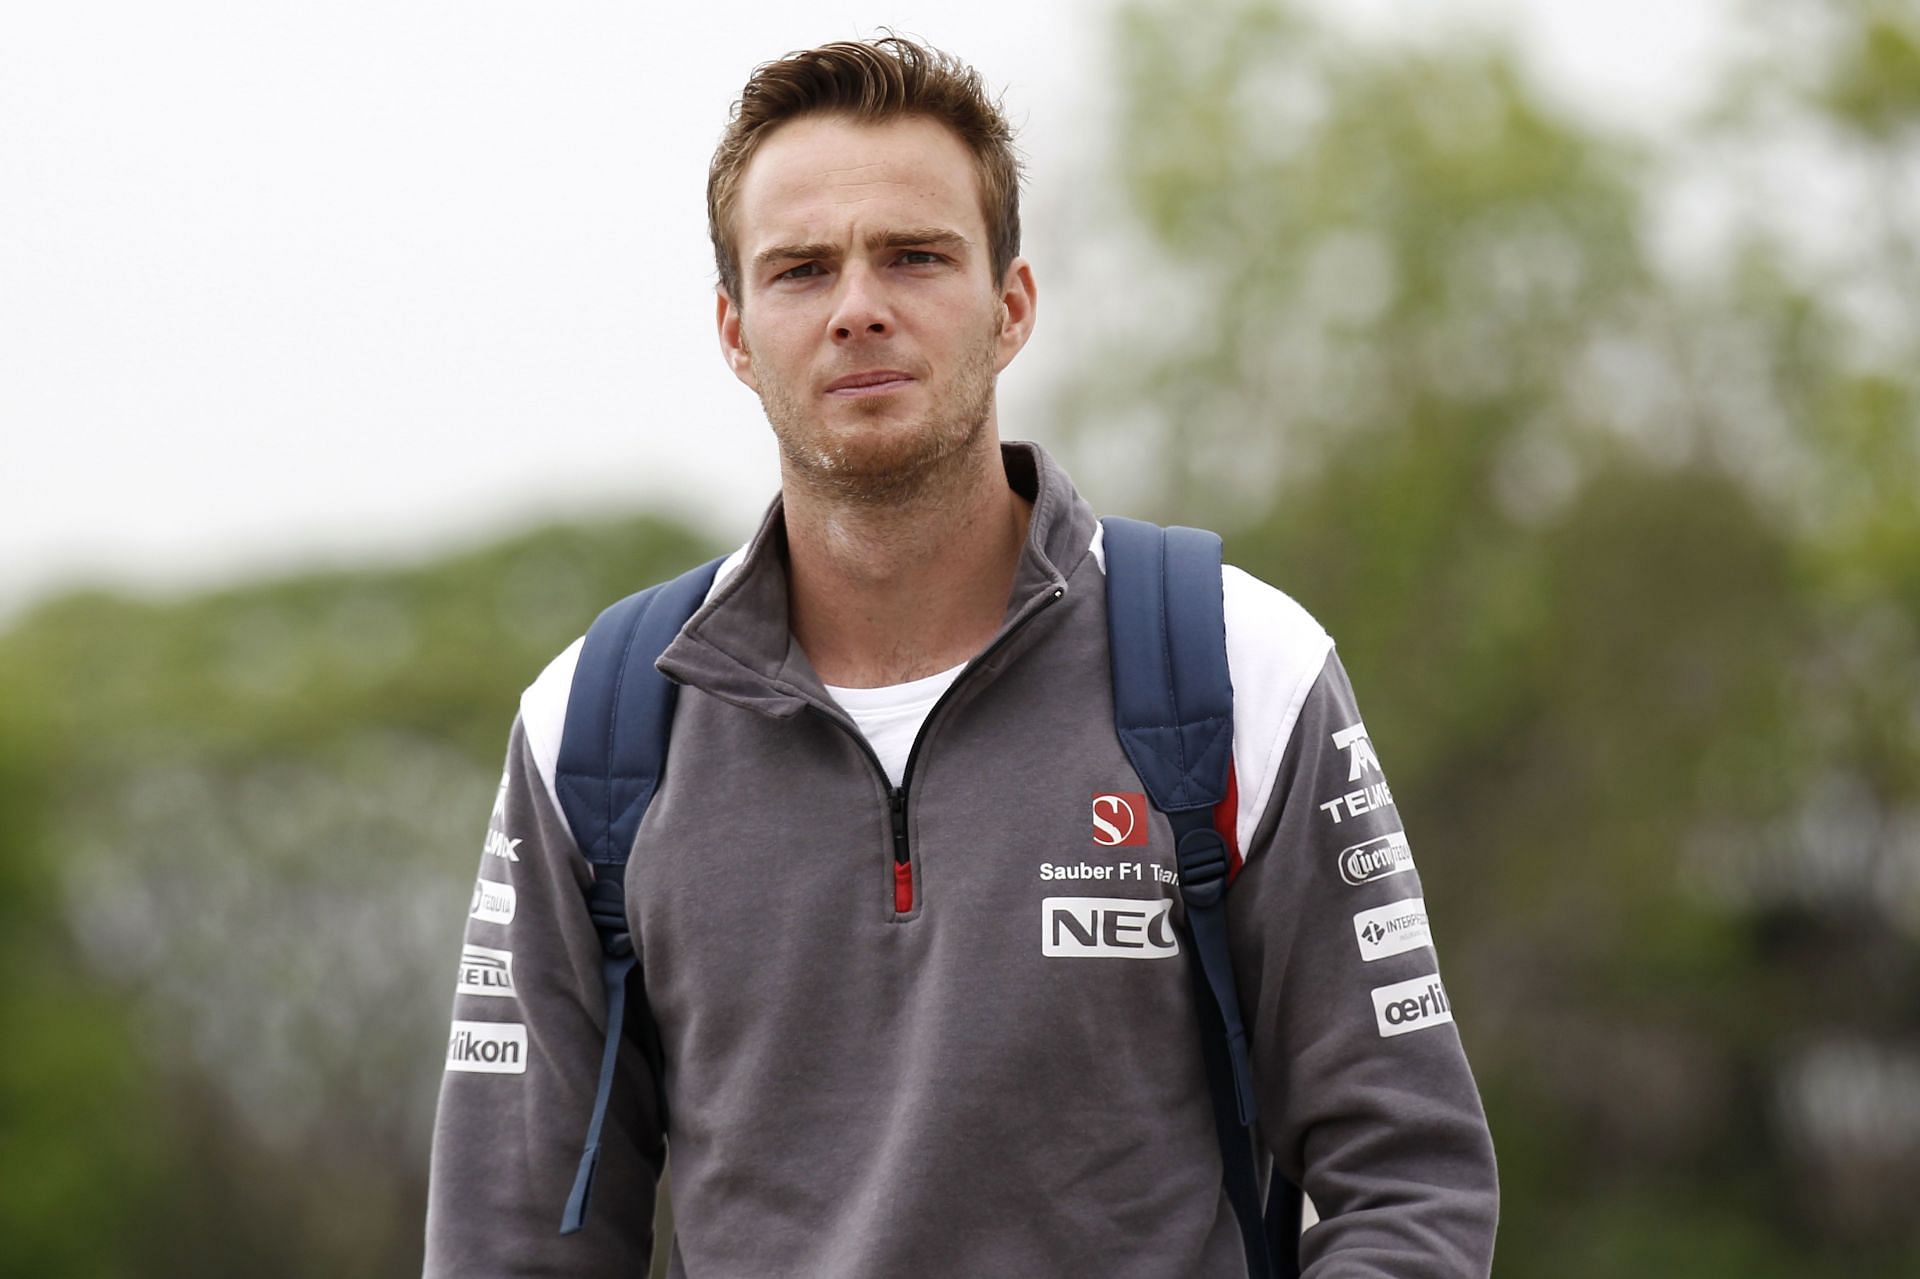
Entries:
[[[1538, 79], [1659, 127], [1726, 0], [1323, 0], [1511, 29]], [[1100, 0], [61, 0], [0, 12], [0, 618], [75, 580], [192, 588], [660, 503], [743, 536], [778, 482], [712, 340], [705, 175], [747, 71], [924, 36], [1006, 88], [1048, 288], [1100, 159]]]

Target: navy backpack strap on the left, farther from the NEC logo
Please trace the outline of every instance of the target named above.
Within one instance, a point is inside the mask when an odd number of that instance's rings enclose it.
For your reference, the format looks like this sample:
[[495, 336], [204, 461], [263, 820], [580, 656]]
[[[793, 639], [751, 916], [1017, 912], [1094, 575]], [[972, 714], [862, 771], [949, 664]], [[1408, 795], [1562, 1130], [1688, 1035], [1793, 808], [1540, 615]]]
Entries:
[[699, 611], [718, 568], [720, 561], [710, 561], [601, 613], [588, 628], [566, 697], [566, 728], [561, 732], [553, 791], [574, 843], [593, 866], [588, 914], [601, 941], [607, 1047], [601, 1052], [586, 1148], [561, 1219], [563, 1235], [572, 1235], [586, 1223], [593, 1193], [601, 1125], [607, 1120], [626, 1018], [626, 979], [636, 962], [634, 939], [626, 931], [626, 858], [647, 805], [660, 787], [666, 741], [674, 730], [674, 703], [680, 697], [680, 686], [655, 670], [653, 663]]

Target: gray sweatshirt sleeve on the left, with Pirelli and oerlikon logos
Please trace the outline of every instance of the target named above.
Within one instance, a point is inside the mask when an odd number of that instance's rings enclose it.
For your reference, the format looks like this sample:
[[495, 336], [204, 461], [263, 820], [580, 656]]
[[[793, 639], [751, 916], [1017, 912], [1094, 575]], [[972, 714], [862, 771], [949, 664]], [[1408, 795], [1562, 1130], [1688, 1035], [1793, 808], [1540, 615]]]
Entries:
[[[453, 987], [426, 1279], [647, 1273], [664, 1145], [653, 1074], [634, 1041], [620, 1045], [586, 1227], [561, 1235], [607, 1001], [584, 897], [591, 870], [538, 768], [516, 720]], [[628, 1008], [645, 1006], [637, 995]]]

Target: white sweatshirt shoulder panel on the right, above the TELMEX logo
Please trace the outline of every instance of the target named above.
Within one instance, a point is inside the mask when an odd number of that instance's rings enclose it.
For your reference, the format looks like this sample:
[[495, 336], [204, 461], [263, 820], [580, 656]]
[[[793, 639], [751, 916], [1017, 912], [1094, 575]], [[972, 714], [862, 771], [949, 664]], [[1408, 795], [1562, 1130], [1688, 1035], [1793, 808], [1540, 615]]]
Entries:
[[[1092, 559], [1106, 572], [1106, 530], [1092, 526]], [[1233, 565], [1221, 570], [1227, 672], [1233, 676], [1233, 772], [1240, 784], [1235, 830], [1240, 853], [1273, 799], [1281, 757], [1300, 722], [1332, 636], [1294, 599]]]

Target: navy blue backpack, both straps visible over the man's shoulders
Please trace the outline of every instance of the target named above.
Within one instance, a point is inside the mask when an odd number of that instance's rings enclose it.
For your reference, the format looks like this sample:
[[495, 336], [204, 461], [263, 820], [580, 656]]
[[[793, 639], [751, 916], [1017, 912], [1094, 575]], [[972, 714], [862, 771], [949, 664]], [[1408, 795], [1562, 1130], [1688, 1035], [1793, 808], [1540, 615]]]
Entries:
[[[1227, 956], [1231, 860], [1213, 828], [1213, 807], [1227, 797], [1233, 760], [1219, 538], [1125, 519], [1102, 524], [1114, 728], [1148, 801], [1173, 826], [1187, 943], [1200, 960], [1190, 972], [1223, 1189], [1240, 1223], [1248, 1275], [1298, 1279], [1300, 1193], [1275, 1170], [1261, 1208], [1254, 1075]], [[555, 791], [580, 851], [593, 864], [588, 912], [601, 939], [607, 1047], [563, 1235], [586, 1223], [599, 1162], [626, 1020], [626, 985], [636, 964], [626, 929], [626, 860], [664, 776], [680, 693], [653, 663], [707, 599], [718, 568], [720, 561], [701, 565], [601, 613], [574, 668]], [[636, 1022], [637, 1041], [659, 1079], [659, 1035], [645, 1012]]]

